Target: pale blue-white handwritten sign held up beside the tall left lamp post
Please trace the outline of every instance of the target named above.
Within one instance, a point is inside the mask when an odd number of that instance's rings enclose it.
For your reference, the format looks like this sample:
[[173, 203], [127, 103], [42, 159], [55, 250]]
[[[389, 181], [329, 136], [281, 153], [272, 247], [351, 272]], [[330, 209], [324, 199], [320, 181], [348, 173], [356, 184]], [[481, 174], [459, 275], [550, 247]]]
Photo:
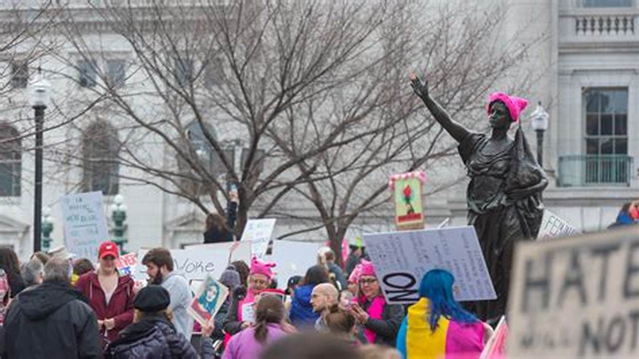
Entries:
[[61, 206], [66, 250], [77, 257], [96, 258], [100, 243], [109, 240], [102, 192], [65, 195]]

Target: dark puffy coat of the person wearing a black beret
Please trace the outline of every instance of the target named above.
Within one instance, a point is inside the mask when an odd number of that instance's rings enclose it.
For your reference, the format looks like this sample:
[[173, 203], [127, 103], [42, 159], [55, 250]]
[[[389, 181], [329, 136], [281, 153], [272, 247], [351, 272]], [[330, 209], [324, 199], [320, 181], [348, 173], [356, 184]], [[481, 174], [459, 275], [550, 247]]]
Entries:
[[[119, 333], [104, 352], [107, 358], [175, 358], [196, 359], [190, 342], [175, 331], [163, 317], [147, 316]], [[202, 358], [213, 358], [211, 339], [202, 342]]]

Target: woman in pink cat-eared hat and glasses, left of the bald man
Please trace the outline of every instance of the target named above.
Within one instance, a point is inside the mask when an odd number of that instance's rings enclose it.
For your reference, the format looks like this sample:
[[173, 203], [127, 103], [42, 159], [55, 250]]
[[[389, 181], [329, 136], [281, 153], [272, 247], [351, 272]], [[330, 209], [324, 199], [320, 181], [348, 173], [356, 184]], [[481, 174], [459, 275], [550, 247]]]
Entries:
[[[249, 287], [238, 287], [233, 292], [233, 298], [229, 312], [224, 319], [224, 332], [228, 335], [235, 335], [251, 325], [250, 318], [242, 316], [243, 307], [252, 305], [256, 296], [270, 286], [273, 272], [271, 268], [275, 267], [275, 263], [262, 262], [257, 257], [253, 257], [250, 261], [249, 271]], [[237, 267], [236, 267], [237, 268]], [[228, 342], [230, 338], [227, 337]]]

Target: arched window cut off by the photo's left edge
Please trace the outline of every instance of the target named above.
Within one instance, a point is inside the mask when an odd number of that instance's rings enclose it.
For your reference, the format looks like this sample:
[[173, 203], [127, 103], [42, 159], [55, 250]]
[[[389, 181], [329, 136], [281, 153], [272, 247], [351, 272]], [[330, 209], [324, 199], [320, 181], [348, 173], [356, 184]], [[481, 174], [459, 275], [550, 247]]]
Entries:
[[20, 195], [22, 141], [15, 127], [0, 124], [0, 197]]

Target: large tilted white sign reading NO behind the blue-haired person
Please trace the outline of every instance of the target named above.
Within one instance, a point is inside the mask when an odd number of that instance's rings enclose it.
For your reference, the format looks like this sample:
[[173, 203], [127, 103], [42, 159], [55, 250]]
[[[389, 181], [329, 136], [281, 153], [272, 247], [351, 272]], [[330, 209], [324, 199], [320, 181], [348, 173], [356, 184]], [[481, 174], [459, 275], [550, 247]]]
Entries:
[[459, 302], [497, 298], [472, 226], [364, 234], [364, 244], [389, 303], [417, 302], [420, 281], [432, 269], [455, 276]]

